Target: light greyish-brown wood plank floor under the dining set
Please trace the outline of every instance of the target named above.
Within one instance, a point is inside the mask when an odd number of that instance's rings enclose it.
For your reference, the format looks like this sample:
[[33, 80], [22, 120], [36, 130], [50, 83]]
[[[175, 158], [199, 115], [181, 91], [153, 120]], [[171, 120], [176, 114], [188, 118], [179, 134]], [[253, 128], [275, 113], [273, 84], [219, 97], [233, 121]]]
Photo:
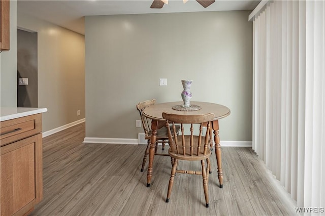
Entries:
[[[84, 137], [82, 123], [43, 139], [43, 201], [31, 215], [295, 214], [250, 148], [222, 147], [223, 189], [213, 153], [206, 208], [202, 178], [194, 175], [177, 174], [170, 202], [165, 202], [169, 157], [155, 156], [147, 188], [146, 170], [140, 172], [145, 145], [83, 144]], [[199, 162], [181, 161], [181, 166], [200, 169]]]

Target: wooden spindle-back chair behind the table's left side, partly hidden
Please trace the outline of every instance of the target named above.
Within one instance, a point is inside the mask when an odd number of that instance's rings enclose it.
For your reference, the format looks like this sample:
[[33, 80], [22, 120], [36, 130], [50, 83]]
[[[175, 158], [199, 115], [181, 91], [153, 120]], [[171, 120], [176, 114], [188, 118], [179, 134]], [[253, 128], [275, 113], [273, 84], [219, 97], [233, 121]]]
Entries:
[[[147, 161], [147, 155], [149, 154], [149, 148], [150, 148], [150, 138], [151, 138], [151, 119], [147, 118], [146, 116], [143, 115], [142, 111], [148, 106], [152, 106], [156, 103], [155, 99], [152, 100], [147, 100], [147, 101], [142, 101], [137, 104], [137, 110], [140, 113], [141, 117], [141, 122], [142, 122], [142, 127], [145, 133], [144, 139], [147, 140], [147, 148], [144, 152], [144, 157], [142, 160], [142, 166], [141, 166], [141, 171], [143, 171], [144, 166]], [[180, 126], [176, 127], [176, 131], [178, 134], [180, 130]], [[163, 154], [163, 153], [157, 153], [158, 149], [158, 143], [161, 143], [163, 145], [163, 150], [165, 150], [165, 145], [168, 142], [168, 134], [167, 134], [167, 128], [165, 127], [165, 122], [161, 121], [158, 122], [158, 129], [157, 129], [157, 134], [156, 134], [156, 148], [155, 148], [155, 155], [162, 155], [162, 156], [169, 156], [169, 154]], [[173, 164], [173, 161], [172, 161]]]

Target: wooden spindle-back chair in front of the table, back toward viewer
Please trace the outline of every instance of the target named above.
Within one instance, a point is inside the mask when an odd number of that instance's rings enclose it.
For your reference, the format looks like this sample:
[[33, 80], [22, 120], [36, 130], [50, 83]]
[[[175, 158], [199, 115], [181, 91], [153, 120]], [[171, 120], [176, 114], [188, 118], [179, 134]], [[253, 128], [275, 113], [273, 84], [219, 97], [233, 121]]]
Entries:
[[[172, 158], [174, 158], [171, 177], [168, 185], [166, 202], [169, 202], [173, 188], [174, 178], [177, 172], [180, 174], [202, 175], [206, 207], [209, 207], [208, 182], [211, 156], [210, 128], [211, 121], [214, 118], [214, 114], [209, 113], [205, 115], [185, 116], [164, 112], [163, 118], [166, 119], [166, 128], [168, 130], [170, 146], [168, 153]], [[176, 124], [180, 124], [181, 134], [177, 136], [177, 138], [173, 139], [173, 137], [176, 137]], [[187, 124], [188, 126], [185, 126], [185, 124]], [[199, 125], [199, 135], [196, 135], [198, 134], [198, 132], [194, 133], [195, 124]], [[206, 133], [203, 132], [203, 127], [205, 125], [207, 127]], [[186, 128], [187, 131], [184, 128]], [[178, 160], [201, 161], [202, 170], [179, 170], [177, 169]], [[205, 160], [207, 161], [207, 166], [205, 165]]]

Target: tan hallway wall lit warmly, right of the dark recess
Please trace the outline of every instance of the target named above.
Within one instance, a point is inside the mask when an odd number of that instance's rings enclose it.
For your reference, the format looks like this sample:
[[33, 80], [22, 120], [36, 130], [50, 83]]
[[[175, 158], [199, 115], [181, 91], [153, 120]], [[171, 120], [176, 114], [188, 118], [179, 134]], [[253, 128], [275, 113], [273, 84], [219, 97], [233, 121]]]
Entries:
[[38, 33], [38, 106], [48, 109], [43, 132], [84, 118], [84, 36], [24, 14], [17, 26]]

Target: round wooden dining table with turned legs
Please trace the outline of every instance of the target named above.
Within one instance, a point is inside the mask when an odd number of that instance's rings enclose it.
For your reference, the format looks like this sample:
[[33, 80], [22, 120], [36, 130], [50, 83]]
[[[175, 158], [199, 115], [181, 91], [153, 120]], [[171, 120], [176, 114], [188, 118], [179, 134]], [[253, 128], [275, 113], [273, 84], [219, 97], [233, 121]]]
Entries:
[[[156, 134], [157, 129], [161, 126], [161, 122], [165, 121], [163, 118], [163, 112], [166, 113], [173, 113], [178, 115], [200, 115], [200, 114], [207, 114], [207, 113], [214, 113], [214, 119], [212, 121], [212, 129], [214, 134], [214, 143], [215, 143], [215, 154], [217, 158], [217, 165], [218, 165], [218, 179], [219, 179], [219, 187], [222, 188], [223, 182], [223, 173], [222, 173], [222, 164], [221, 164], [221, 146], [220, 146], [220, 138], [219, 138], [219, 119], [224, 118], [230, 115], [230, 109], [226, 106], [215, 104], [215, 103], [208, 103], [208, 102], [199, 102], [193, 101], [191, 105], [200, 106], [200, 110], [196, 111], [178, 111], [173, 109], [174, 106], [182, 105], [183, 102], [168, 102], [168, 103], [160, 103], [154, 104], [152, 106], [146, 107], [143, 110], [143, 114], [152, 120], [151, 129], [152, 134], [150, 138], [150, 149], [149, 149], [149, 166], [148, 166], [148, 173], [147, 173], [147, 187], [150, 187], [151, 178], [152, 178], [152, 164], [153, 158], [155, 153], [155, 143], [156, 143]], [[160, 122], [160, 123], [159, 123]]]

